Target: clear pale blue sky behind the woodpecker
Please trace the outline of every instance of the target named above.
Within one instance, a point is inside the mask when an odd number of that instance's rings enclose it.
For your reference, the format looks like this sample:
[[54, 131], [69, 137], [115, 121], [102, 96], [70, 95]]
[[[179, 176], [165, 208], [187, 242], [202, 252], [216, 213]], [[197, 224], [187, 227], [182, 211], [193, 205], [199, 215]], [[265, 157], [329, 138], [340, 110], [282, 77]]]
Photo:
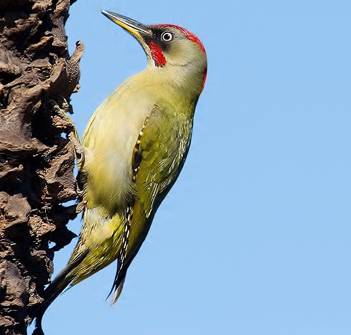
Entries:
[[209, 72], [186, 165], [120, 300], [106, 300], [113, 264], [58, 297], [47, 335], [351, 334], [351, 2], [79, 0], [66, 32], [71, 53], [85, 46], [80, 135], [146, 65], [101, 9], [188, 28]]

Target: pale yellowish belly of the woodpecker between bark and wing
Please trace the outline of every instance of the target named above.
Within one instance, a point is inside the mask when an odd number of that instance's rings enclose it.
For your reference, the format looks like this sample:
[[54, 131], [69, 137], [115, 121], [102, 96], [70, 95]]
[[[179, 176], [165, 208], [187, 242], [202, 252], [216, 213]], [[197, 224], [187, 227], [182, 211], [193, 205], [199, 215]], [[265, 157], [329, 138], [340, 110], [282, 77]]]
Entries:
[[[88, 173], [85, 201], [88, 208], [102, 206], [107, 215], [126, 208], [131, 199], [133, 148], [151, 104], [105, 101], [92, 118], [83, 146], [87, 154], [83, 170]], [[150, 105], [150, 106], [149, 106]], [[121, 108], [122, 107], [122, 108]]]

